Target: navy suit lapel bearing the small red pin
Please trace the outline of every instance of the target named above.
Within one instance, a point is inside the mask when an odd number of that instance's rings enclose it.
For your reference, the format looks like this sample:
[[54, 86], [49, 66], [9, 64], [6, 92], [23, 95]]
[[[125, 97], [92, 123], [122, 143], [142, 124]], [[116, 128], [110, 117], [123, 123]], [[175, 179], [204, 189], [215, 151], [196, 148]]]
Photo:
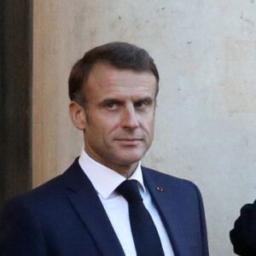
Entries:
[[[175, 255], [190, 255], [184, 233], [186, 227], [183, 227], [182, 202], [175, 196], [172, 184], [167, 183], [166, 178], [160, 177], [157, 172], [152, 172], [145, 167], [143, 167], [143, 178], [166, 227]], [[162, 187], [163, 190], [160, 191], [157, 187]]]

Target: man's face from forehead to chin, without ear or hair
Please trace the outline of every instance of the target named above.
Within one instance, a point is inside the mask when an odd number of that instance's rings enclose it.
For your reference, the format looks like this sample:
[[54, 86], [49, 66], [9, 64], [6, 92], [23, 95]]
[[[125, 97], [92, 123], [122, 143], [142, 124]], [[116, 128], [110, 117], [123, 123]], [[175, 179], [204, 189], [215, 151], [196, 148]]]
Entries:
[[116, 172], [134, 170], [154, 137], [155, 90], [153, 73], [96, 64], [85, 85], [87, 154]]

